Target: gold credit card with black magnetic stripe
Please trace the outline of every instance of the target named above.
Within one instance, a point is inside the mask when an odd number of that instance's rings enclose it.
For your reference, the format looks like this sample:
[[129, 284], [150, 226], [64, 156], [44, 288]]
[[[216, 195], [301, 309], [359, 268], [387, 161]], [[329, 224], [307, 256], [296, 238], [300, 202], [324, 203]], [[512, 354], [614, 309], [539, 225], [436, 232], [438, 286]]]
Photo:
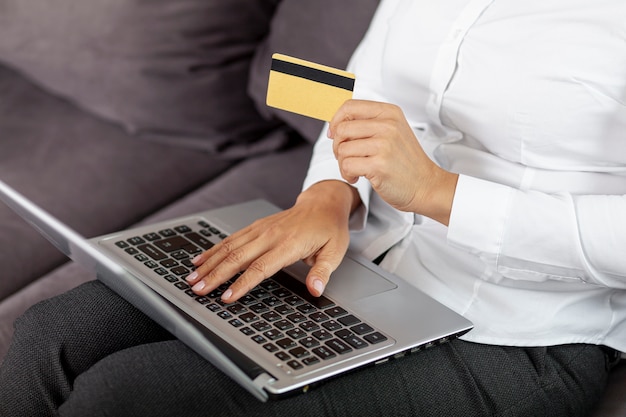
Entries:
[[328, 122], [352, 98], [354, 80], [347, 71], [274, 54], [267, 105]]

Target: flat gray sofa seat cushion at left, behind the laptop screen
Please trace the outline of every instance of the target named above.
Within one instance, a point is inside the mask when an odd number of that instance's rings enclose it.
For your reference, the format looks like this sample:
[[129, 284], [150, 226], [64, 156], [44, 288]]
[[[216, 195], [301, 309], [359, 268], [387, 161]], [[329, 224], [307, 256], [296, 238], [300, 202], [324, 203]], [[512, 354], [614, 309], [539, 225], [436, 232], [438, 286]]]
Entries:
[[[0, 67], [0, 178], [85, 236], [128, 226], [235, 161], [135, 141]], [[0, 202], [0, 300], [65, 256]]]

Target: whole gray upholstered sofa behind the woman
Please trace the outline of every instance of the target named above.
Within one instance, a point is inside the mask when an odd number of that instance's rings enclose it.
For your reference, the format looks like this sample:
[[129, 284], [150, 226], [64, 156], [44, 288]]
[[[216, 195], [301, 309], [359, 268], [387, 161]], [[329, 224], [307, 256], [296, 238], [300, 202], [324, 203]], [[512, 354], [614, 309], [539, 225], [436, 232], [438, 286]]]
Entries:
[[[0, 0], [0, 178], [86, 236], [262, 197], [318, 121], [270, 110], [272, 52], [345, 66], [376, 0]], [[0, 205], [0, 360], [30, 305], [93, 279]], [[626, 366], [595, 416], [626, 416]]]

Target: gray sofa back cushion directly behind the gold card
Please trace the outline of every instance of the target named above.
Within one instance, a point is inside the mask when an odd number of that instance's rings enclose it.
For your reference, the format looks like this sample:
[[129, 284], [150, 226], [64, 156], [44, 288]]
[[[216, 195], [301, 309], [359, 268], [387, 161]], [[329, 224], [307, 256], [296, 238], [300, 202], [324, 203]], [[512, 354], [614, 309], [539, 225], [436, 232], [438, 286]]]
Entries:
[[282, 0], [272, 19], [270, 33], [252, 62], [249, 91], [259, 111], [268, 118], [283, 120], [309, 141], [315, 141], [323, 122], [265, 104], [272, 54], [279, 52], [345, 68], [378, 3], [378, 0]]

